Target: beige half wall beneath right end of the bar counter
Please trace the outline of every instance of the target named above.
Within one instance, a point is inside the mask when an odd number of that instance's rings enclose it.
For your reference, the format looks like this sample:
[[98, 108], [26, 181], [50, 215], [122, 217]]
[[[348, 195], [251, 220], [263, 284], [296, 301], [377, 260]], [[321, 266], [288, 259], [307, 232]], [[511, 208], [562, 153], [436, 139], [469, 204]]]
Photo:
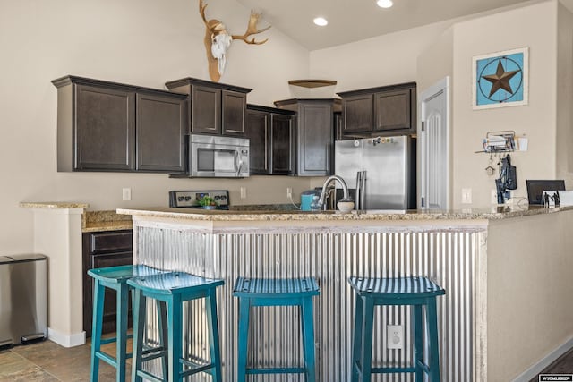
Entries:
[[488, 381], [514, 380], [573, 338], [571, 225], [573, 211], [490, 222]]

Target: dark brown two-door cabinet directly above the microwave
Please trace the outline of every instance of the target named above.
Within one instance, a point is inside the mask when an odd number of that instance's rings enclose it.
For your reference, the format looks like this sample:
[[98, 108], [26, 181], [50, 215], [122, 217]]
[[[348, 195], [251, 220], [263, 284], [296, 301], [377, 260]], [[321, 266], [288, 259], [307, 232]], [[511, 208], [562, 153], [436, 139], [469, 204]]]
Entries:
[[251, 89], [193, 78], [169, 81], [166, 86], [191, 96], [189, 132], [244, 137], [246, 98]]

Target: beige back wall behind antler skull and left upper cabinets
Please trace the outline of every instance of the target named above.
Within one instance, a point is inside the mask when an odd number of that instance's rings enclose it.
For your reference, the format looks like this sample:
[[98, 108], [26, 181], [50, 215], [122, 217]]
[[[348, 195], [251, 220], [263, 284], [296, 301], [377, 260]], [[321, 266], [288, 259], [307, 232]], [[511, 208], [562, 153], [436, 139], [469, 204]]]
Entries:
[[[208, 80], [204, 25], [197, 0], [3, 0], [0, 5], [0, 254], [32, 250], [30, 211], [21, 200], [70, 200], [90, 209], [167, 206], [167, 191], [229, 189], [235, 204], [295, 199], [309, 179], [170, 180], [166, 174], [56, 172], [57, 77], [74, 74], [152, 88], [191, 76]], [[207, 15], [243, 33], [250, 10], [234, 0], [208, 1]], [[221, 82], [254, 89], [248, 101], [271, 106], [290, 98], [288, 80], [307, 78], [309, 53], [279, 30], [254, 47], [229, 49]], [[247, 199], [239, 188], [247, 187]], [[122, 201], [131, 187], [132, 201]]]

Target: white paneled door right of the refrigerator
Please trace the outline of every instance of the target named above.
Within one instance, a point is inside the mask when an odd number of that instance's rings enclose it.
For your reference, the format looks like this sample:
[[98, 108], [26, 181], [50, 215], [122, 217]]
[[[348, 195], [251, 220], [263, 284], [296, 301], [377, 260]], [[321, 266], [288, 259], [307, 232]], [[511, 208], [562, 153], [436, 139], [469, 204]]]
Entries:
[[421, 198], [418, 207], [449, 205], [449, 77], [423, 91], [421, 97]]

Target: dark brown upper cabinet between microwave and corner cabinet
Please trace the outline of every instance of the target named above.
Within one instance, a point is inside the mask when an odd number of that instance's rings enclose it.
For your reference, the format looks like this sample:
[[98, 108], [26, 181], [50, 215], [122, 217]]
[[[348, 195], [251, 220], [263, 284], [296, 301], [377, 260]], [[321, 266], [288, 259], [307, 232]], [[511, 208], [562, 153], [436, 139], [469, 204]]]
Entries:
[[294, 112], [247, 105], [246, 137], [250, 139], [251, 174], [295, 173]]

